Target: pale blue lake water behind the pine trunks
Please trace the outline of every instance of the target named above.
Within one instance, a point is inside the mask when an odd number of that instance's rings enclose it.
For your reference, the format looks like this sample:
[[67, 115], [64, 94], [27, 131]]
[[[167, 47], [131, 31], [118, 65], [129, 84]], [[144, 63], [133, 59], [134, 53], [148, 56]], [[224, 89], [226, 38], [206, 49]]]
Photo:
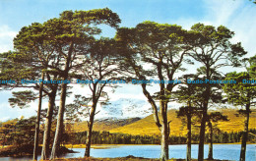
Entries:
[[[214, 158], [225, 160], [239, 160], [240, 144], [214, 144]], [[73, 148], [78, 153], [69, 153], [61, 157], [65, 158], [78, 158], [84, 157], [85, 148]], [[192, 145], [192, 158], [197, 158], [198, 145]], [[92, 149], [91, 156], [98, 158], [115, 158], [133, 155], [136, 157], [144, 158], [159, 158], [160, 145], [120, 145], [104, 149]], [[205, 145], [205, 158], [208, 155], [208, 145]], [[256, 160], [256, 144], [248, 144], [246, 148], [246, 160]], [[169, 145], [169, 158], [186, 157], [186, 145]], [[40, 156], [38, 156], [38, 159]], [[2, 157], [1, 161], [27, 161], [32, 160], [32, 157]]]

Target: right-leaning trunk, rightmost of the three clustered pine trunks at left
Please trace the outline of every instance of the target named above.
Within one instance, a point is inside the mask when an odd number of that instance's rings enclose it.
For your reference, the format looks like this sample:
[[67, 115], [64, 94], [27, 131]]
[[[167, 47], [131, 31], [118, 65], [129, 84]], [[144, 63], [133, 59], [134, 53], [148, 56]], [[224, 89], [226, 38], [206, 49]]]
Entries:
[[[64, 80], [66, 80], [66, 78]], [[64, 111], [65, 111], [66, 92], [67, 92], [67, 84], [62, 83], [61, 84], [61, 95], [60, 95], [60, 106], [59, 106], [59, 110], [58, 110], [57, 127], [56, 127], [55, 136], [54, 136], [54, 141], [52, 144], [50, 159], [55, 159], [59, 152], [59, 145], [60, 145], [60, 139], [61, 139], [62, 128], [63, 128], [63, 117], [64, 117]]]

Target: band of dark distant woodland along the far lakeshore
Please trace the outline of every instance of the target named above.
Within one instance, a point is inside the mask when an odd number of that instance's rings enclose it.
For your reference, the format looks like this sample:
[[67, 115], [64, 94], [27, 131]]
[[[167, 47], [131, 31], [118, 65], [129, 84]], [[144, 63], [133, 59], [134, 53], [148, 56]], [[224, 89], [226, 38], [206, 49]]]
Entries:
[[[2, 139], [0, 144], [24, 144], [33, 142], [34, 120], [31, 119], [13, 120], [9, 123], [0, 123], [0, 135]], [[16, 122], [17, 121], [17, 122]], [[16, 123], [15, 123], [16, 122]], [[72, 130], [66, 129], [61, 138], [61, 144], [83, 144], [87, 139], [87, 131], [72, 133]], [[54, 135], [54, 131], [51, 132]], [[242, 132], [219, 132], [213, 134], [213, 143], [237, 143], [241, 141]], [[210, 134], [206, 134], [205, 142], [209, 142]], [[185, 144], [186, 136], [170, 135], [169, 144]], [[42, 133], [39, 135], [39, 142], [42, 142]], [[199, 142], [199, 134], [192, 134], [192, 143]], [[248, 143], [256, 143], [256, 129], [248, 132]], [[93, 144], [160, 144], [160, 135], [147, 134], [111, 134], [109, 132], [93, 132]]]

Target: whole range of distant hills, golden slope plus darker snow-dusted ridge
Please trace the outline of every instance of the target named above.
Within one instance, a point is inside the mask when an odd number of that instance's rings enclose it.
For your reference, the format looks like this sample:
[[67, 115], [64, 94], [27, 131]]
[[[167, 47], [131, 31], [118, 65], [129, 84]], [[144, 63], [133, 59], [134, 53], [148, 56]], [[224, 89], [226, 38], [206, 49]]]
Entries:
[[[185, 135], [186, 125], [182, 125], [181, 120], [176, 117], [177, 110], [168, 111], [168, 120], [170, 123], [170, 134], [171, 135]], [[240, 132], [243, 130], [244, 117], [242, 115], [236, 116], [237, 110], [235, 109], [222, 109], [219, 110], [227, 115], [228, 122], [219, 122], [218, 128], [222, 131], [230, 132]], [[211, 112], [211, 111], [210, 111]], [[76, 132], [87, 131], [87, 122], [76, 123]], [[256, 129], [256, 111], [252, 112], [250, 115], [249, 129]], [[110, 133], [120, 133], [120, 134], [148, 134], [155, 135], [160, 134], [160, 130], [157, 128], [153, 115], [150, 115], [144, 119], [131, 118], [131, 119], [116, 119], [107, 118], [96, 120], [94, 125], [94, 131], [107, 131]], [[199, 133], [199, 125], [192, 127], [192, 133]]]

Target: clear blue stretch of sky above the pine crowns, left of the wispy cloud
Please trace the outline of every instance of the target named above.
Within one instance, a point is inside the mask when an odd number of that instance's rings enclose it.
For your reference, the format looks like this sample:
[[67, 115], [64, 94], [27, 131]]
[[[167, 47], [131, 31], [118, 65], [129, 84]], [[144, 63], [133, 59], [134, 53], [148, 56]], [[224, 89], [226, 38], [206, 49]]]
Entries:
[[206, 14], [200, 0], [0, 0], [0, 20], [1, 24], [19, 30], [32, 22], [58, 17], [64, 10], [104, 7], [118, 13], [123, 26], [135, 26], [146, 20], [170, 23], [179, 17], [203, 19]]

